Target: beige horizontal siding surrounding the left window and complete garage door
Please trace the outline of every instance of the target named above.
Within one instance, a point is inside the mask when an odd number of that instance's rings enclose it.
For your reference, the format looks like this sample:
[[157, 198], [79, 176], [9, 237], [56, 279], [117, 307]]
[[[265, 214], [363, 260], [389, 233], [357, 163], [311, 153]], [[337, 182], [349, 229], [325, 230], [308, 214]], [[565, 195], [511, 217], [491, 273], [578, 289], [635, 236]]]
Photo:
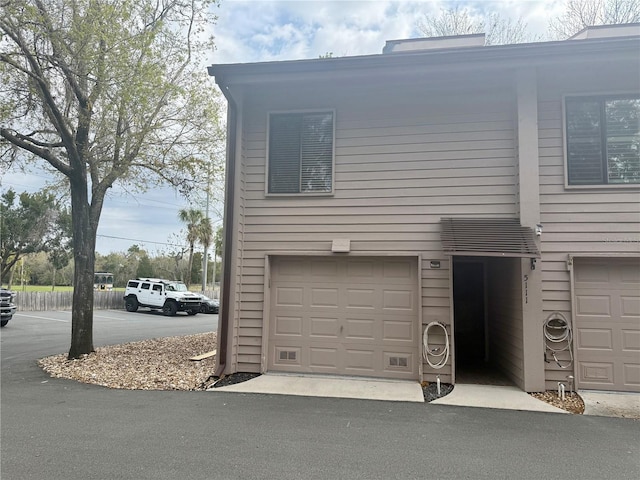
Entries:
[[[333, 239], [348, 238], [352, 254], [420, 254], [423, 323], [450, 323], [440, 218], [516, 214], [512, 83], [496, 74], [475, 84], [455, 95], [426, 79], [395, 90], [374, 80], [353, 88], [256, 87], [245, 99], [240, 370], [260, 368], [267, 253], [330, 255]], [[333, 196], [265, 198], [267, 115], [288, 109], [335, 109]], [[449, 367], [439, 373], [450, 380]]]

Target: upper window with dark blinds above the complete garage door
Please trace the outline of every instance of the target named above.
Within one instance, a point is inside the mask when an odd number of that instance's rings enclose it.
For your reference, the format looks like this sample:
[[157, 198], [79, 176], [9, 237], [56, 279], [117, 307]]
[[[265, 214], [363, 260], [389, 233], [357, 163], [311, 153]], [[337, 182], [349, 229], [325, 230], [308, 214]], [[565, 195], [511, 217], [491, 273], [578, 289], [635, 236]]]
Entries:
[[334, 112], [269, 114], [267, 194], [331, 194]]

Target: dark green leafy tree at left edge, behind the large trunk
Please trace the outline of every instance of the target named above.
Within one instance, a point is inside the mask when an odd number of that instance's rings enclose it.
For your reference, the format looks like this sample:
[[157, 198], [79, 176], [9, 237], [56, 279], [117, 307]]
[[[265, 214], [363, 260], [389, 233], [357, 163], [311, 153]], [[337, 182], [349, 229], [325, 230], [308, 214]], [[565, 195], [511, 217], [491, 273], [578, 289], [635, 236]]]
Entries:
[[9, 189], [0, 198], [0, 281], [10, 283], [10, 273], [29, 253], [46, 250], [55, 241], [59, 206], [53, 195], [44, 192], [19, 196]]

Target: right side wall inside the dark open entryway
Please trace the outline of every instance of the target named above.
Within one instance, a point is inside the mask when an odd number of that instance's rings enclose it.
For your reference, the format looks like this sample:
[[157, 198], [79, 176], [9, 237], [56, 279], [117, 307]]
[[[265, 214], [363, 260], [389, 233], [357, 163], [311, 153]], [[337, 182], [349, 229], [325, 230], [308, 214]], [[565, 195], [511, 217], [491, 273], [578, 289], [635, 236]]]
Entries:
[[489, 259], [487, 297], [491, 364], [524, 388], [520, 264], [513, 258]]

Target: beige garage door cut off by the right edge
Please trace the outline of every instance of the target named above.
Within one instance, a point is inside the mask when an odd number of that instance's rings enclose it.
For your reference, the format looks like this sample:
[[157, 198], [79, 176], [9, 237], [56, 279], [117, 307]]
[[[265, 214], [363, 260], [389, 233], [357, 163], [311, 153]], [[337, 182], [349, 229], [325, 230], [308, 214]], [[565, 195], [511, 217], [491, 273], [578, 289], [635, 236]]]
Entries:
[[578, 387], [640, 392], [640, 263], [576, 261]]

